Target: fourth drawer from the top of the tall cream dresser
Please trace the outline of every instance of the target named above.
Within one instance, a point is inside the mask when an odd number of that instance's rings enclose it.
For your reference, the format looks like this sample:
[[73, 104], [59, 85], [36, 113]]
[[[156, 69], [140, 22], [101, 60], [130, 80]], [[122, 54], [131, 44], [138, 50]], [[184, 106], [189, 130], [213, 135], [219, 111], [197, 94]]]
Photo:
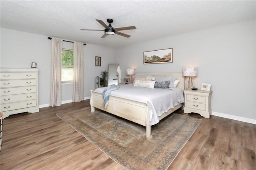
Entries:
[[5, 103], [13, 103], [17, 101], [27, 101], [27, 100], [34, 100], [34, 99], [36, 99], [36, 93], [27, 93], [27, 94], [21, 94], [21, 95], [1, 96], [0, 102], [1, 104], [5, 104]]

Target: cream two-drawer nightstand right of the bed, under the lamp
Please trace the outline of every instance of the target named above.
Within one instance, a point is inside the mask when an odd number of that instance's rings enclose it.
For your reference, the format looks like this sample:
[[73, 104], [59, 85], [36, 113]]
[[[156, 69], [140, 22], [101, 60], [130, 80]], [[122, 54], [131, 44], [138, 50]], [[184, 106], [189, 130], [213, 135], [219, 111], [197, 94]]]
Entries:
[[199, 113], [202, 117], [210, 118], [212, 91], [185, 89], [184, 94], [184, 113]]

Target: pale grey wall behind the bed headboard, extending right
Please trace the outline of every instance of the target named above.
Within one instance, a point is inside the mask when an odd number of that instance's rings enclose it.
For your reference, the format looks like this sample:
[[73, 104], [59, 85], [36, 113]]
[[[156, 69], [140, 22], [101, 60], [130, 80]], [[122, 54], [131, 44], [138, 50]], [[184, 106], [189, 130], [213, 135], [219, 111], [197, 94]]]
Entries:
[[[195, 87], [212, 85], [212, 111], [256, 120], [256, 22], [200, 30], [115, 49], [122, 69], [181, 72], [198, 67]], [[143, 51], [173, 48], [173, 63], [143, 64]], [[256, 121], [255, 121], [256, 122]]]

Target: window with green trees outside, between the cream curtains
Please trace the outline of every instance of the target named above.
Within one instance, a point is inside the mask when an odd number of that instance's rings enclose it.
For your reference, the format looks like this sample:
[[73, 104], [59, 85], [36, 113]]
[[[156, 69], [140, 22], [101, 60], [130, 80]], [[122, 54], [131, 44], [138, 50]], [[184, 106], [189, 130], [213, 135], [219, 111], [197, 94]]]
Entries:
[[68, 82], [73, 82], [73, 74], [74, 74], [74, 69], [73, 69], [73, 50], [70, 49], [62, 49], [62, 54], [61, 54], [61, 82], [62, 83], [68, 83]]

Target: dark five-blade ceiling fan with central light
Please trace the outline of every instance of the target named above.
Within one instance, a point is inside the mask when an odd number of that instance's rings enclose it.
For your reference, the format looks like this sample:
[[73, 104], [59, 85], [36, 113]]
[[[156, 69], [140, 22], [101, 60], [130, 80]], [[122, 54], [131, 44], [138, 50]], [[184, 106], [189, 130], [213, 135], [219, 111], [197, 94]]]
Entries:
[[[112, 19], [107, 19], [107, 22], [109, 23], [109, 25], [107, 26], [102, 20], [96, 20], [98, 21], [98, 23], [100, 23], [102, 26], [104, 26], [105, 30], [86, 30], [86, 31], [104, 31], [105, 34], [101, 37], [101, 38], [105, 38], [108, 35], [114, 35], [117, 34], [119, 36], [124, 36], [126, 38], [129, 38], [130, 35], [128, 34], [124, 34], [122, 32], [119, 31], [123, 31], [123, 30], [134, 30], [136, 29], [135, 26], [129, 26], [129, 27], [121, 27], [121, 28], [113, 28], [111, 26], [111, 23], [113, 22]], [[81, 29], [82, 31], [84, 31], [85, 29]]]

